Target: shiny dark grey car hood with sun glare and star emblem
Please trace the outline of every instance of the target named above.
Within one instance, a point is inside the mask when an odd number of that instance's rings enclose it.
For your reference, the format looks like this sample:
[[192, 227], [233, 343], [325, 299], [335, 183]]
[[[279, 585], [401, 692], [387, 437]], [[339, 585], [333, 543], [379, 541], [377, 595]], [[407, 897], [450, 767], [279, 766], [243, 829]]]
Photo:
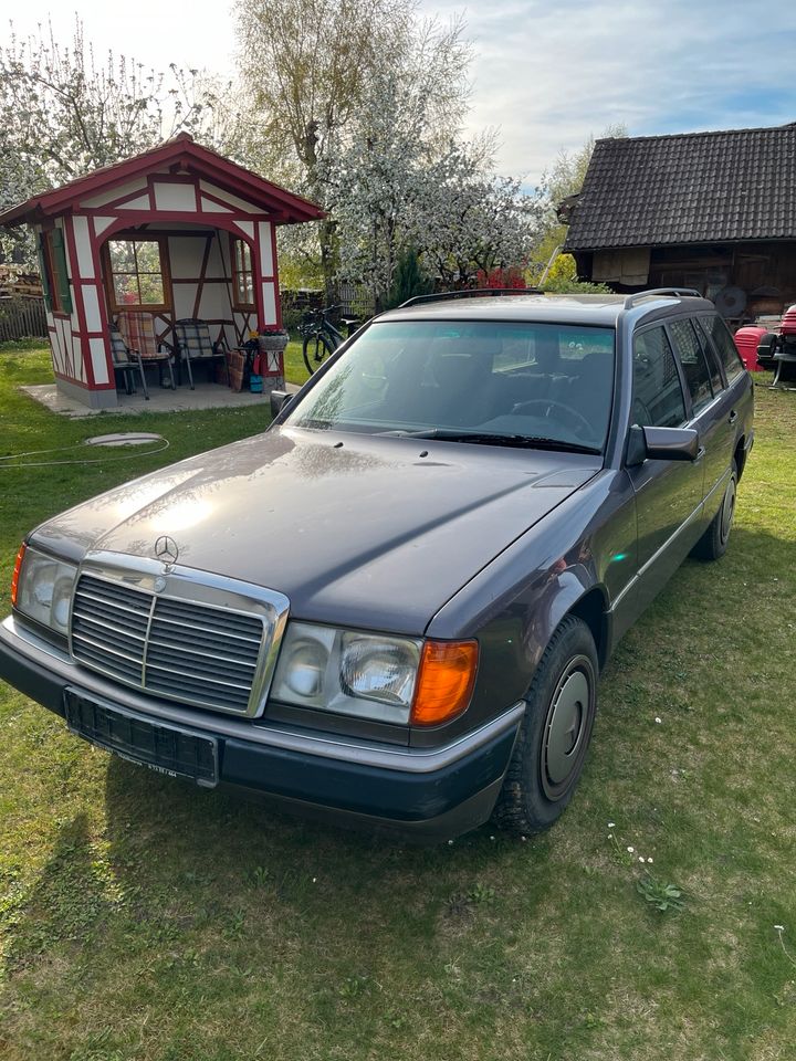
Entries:
[[520, 535], [586, 483], [596, 456], [275, 428], [55, 517], [62, 556], [155, 556], [285, 593], [296, 618], [421, 634]]

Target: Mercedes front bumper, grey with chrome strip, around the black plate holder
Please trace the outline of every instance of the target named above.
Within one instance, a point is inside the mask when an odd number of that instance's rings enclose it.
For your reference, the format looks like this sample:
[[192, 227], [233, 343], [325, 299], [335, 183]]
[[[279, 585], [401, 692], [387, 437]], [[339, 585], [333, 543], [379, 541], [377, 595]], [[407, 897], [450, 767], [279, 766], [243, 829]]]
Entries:
[[467, 832], [490, 817], [524, 711], [515, 704], [480, 729], [432, 749], [298, 731], [144, 696], [77, 665], [13, 618], [0, 626], [0, 676], [62, 716], [64, 691], [71, 689], [139, 717], [214, 737], [222, 784], [312, 815], [331, 813], [342, 823], [433, 839]]

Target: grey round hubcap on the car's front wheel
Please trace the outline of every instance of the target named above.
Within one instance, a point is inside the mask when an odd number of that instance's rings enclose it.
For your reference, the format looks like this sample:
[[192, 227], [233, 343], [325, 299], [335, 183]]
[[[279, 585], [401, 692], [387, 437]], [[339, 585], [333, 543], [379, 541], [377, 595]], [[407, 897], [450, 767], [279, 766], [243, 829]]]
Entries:
[[551, 701], [542, 745], [542, 788], [548, 799], [567, 791], [583, 761], [594, 714], [590, 674], [587, 659], [573, 660]]

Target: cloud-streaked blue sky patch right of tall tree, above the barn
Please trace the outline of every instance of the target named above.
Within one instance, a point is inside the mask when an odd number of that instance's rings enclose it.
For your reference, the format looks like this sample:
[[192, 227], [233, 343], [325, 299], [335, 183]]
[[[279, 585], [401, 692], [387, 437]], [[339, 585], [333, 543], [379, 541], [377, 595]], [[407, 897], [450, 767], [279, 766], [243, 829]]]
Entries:
[[[423, 0], [426, 14], [462, 8]], [[776, 55], [796, 7], [732, 0], [513, 0], [465, 11], [473, 41], [468, 129], [500, 127], [502, 171], [535, 181], [559, 150], [625, 124], [631, 136], [796, 120]], [[789, 40], [788, 40], [789, 39]]]

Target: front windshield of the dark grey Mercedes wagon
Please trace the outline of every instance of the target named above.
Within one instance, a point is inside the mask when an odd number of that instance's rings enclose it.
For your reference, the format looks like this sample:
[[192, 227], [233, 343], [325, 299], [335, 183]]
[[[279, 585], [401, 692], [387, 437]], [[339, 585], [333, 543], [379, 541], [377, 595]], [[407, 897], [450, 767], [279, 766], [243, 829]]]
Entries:
[[376, 322], [286, 423], [599, 451], [614, 336], [611, 328], [513, 321]]

